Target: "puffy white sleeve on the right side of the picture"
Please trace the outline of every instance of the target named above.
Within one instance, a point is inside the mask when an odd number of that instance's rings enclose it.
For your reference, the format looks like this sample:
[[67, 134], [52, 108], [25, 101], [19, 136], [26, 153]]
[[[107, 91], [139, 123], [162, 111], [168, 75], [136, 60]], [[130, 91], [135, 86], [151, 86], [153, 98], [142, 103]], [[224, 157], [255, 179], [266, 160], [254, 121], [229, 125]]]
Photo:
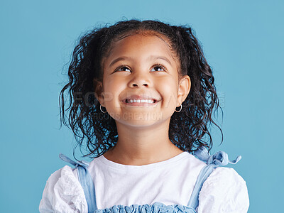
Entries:
[[233, 168], [216, 168], [200, 190], [197, 213], [246, 213], [248, 209], [244, 179]]

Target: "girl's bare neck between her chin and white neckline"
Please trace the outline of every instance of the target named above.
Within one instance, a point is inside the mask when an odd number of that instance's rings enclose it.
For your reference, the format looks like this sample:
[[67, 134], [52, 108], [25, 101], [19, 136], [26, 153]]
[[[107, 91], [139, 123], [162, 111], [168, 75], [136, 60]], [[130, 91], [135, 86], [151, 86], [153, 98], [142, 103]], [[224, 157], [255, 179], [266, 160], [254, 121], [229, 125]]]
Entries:
[[168, 138], [169, 124], [163, 125], [142, 129], [116, 125], [119, 140], [104, 153], [104, 157], [124, 165], [147, 165], [175, 157], [183, 151]]

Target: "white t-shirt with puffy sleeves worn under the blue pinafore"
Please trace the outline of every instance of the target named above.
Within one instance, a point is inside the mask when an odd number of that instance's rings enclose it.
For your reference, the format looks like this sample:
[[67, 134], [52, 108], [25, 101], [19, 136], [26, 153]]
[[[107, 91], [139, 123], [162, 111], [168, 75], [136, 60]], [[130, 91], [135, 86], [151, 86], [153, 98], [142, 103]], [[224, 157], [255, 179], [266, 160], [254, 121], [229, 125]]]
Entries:
[[[206, 164], [190, 153], [148, 165], [122, 165], [104, 158], [89, 163], [98, 209], [131, 204], [187, 205], [200, 170]], [[77, 170], [65, 165], [45, 185], [40, 212], [87, 212]], [[233, 168], [216, 168], [199, 195], [198, 213], [247, 212], [246, 182]]]

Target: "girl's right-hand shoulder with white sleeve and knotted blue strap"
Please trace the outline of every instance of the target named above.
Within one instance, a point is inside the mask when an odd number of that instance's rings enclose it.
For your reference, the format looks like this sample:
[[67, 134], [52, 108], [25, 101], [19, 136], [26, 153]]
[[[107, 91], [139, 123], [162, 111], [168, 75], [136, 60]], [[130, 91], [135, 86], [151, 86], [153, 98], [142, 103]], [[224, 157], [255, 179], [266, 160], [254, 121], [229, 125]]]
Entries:
[[[200, 171], [190, 204], [198, 212], [247, 212], [249, 194], [246, 182], [233, 168], [223, 167], [228, 163], [235, 164], [241, 160], [229, 160], [224, 151], [210, 155], [206, 148], [195, 151], [195, 157], [206, 165]], [[198, 201], [197, 201], [198, 199]]]

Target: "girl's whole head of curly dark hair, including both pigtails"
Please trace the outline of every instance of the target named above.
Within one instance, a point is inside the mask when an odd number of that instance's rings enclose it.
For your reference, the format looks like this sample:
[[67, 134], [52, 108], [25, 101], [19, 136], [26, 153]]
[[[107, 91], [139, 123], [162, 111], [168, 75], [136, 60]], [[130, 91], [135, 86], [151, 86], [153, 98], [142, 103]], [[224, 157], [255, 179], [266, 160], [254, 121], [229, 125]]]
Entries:
[[[68, 68], [69, 82], [62, 88], [59, 101], [60, 127], [62, 122], [70, 126], [77, 141], [74, 157], [78, 145], [81, 153], [84, 146], [88, 152], [84, 157], [90, 158], [96, 158], [115, 146], [118, 140], [116, 123], [109, 114], [100, 111], [94, 88], [97, 82], [102, 82], [102, 60], [109, 53], [111, 45], [127, 35], [145, 32], [168, 38], [180, 61], [179, 76], [188, 75], [191, 80], [190, 93], [182, 103], [182, 110], [171, 116], [168, 132], [170, 141], [182, 151], [192, 152], [200, 146], [210, 150], [212, 136], [209, 127], [214, 124], [222, 133], [222, 129], [212, 119], [212, 112], [220, 108], [212, 69], [204, 58], [192, 28], [170, 26], [160, 21], [119, 21], [113, 26], [88, 31], [81, 36], [72, 52]], [[67, 109], [64, 96], [66, 90], [69, 92], [67, 99], [70, 104]], [[68, 117], [65, 111], [69, 111]], [[84, 143], [85, 139], [87, 141]]]

